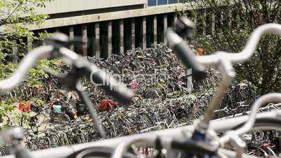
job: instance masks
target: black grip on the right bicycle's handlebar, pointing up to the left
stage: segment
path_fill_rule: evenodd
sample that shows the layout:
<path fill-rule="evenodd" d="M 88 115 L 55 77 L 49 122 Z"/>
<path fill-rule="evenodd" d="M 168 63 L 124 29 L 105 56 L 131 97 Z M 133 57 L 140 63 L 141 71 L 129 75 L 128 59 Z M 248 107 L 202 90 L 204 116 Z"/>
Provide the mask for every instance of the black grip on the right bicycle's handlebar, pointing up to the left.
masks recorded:
<path fill-rule="evenodd" d="M 196 55 L 194 55 L 192 49 L 180 36 L 178 36 L 178 34 L 175 34 L 173 29 L 168 28 L 167 38 L 169 45 L 171 45 L 187 69 L 192 68 L 193 72 L 196 73 L 197 78 L 202 78 L 206 75 L 206 67 L 196 61 Z"/>

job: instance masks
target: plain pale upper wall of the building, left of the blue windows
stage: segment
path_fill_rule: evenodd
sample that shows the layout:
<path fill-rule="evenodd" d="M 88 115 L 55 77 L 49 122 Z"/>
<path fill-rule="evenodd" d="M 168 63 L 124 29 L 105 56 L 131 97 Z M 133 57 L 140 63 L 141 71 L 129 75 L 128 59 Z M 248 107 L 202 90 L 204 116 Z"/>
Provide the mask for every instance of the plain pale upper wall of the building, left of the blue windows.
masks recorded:
<path fill-rule="evenodd" d="M 46 3 L 46 8 L 38 8 L 38 11 L 41 13 L 56 14 L 146 3 L 147 0 L 55 0 Z"/>

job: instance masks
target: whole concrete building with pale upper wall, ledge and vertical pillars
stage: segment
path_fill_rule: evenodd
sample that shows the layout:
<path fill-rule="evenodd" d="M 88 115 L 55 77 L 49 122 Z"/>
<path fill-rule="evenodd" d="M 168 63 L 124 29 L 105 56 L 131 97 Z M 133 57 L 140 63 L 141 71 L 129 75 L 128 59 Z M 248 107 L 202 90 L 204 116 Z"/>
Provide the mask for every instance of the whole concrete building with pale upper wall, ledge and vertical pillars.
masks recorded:
<path fill-rule="evenodd" d="M 40 27 L 29 26 L 35 33 L 61 31 L 73 38 L 81 36 L 86 45 L 71 45 L 82 55 L 110 57 L 133 48 L 166 43 L 164 32 L 183 8 L 180 0 L 55 0 L 41 13 L 50 18 Z"/>

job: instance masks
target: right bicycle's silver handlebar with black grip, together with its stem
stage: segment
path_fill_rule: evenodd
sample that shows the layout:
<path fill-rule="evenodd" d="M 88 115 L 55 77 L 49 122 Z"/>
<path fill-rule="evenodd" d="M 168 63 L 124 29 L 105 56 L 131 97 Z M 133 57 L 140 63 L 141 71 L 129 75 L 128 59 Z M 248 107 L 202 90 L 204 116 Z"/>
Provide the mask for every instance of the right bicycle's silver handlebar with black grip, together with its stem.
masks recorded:
<path fill-rule="evenodd" d="M 188 27 L 188 26 L 187 26 Z M 182 61 L 188 62 L 187 66 L 192 66 L 192 69 L 202 72 L 203 68 L 215 68 L 222 73 L 222 85 L 217 89 L 215 97 L 212 99 L 211 105 L 208 107 L 206 115 L 203 118 L 203 122 L 209 122 L 212 119 L 212 115 L 220 101 L 224 91 L 228 88 L 231 79 L 235 77 L 236 73 L 233 70 L 233 64 L 237 62 L 245 62 L 249 59 L 254 51 L 257 49 L 257 44 L 261 36 L 264 34 L 278 34 L 281 36 L 281 24 L 264 24 L 261 27 L 255 29 L 250 35 L 249 40 L 242 52 L 229 53 L 229 52 L 215 52 L 213 55 L 196 56 L 192 53 L 187 43 L 183 42 L 183 39 L 175 34 L 171 29 L 167 31 L 167 39 L 173 48 L 178 48 L 180 43 L 180 49 L 178 49 L 179 57 Z M 184 45 L 184 46 L 183 46 Z M 189 64 L 189 65 L 188 65 Z"/>

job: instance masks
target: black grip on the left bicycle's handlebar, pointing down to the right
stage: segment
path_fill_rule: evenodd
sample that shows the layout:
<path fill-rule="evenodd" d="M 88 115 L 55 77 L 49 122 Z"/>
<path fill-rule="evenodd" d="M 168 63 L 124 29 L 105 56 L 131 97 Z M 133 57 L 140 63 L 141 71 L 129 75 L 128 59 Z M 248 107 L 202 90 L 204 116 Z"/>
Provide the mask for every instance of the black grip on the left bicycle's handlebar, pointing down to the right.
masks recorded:
<path fill-rule="evenodd" d="M 99 69 L 95 64 L 92 64 L 85 59 L 80 60 L 79 64 L 78 67 L 83 69 L 81 72 L 87 73 L 85 75 L 87 77 L 89 76 L 92 84 L 104 89 L 107 94 L 113 96 L 120 103 L 127 104 L 134 97 L 134 92 L 131 91 L 131 89 L 128 89 L 126 85 L 110 76 L 106 71 Z"/>

